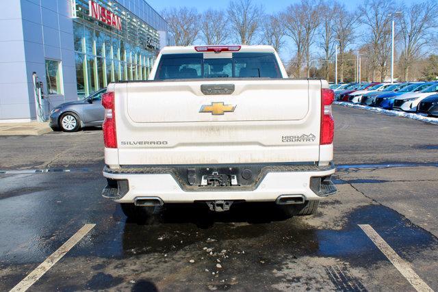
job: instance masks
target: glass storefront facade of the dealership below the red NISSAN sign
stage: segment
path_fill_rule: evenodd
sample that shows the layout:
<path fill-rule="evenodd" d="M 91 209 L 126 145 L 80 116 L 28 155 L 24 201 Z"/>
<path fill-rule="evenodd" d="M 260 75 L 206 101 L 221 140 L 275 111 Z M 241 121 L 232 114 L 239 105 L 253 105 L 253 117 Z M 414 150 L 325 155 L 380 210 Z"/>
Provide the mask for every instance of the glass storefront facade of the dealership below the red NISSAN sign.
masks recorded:
<path fill-rule="evenodd" d="M 73 34 L 78 96 L 91 94 L 114 81 L 145 80 L 149 76 L 149 63 L 159 47 L 159 34 L 123 6 L 112 2 L 111 10 L 122 19 L 121 31 L 90 18 L 88 1 L 76 1 Z"/>

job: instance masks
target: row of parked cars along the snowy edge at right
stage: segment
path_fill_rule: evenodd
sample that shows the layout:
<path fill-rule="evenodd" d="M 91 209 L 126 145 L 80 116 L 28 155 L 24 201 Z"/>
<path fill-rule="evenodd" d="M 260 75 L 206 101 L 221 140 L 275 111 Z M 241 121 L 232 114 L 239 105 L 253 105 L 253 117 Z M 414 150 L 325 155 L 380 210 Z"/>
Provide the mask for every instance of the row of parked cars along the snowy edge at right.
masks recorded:
<path fill-rule="evenodd" d="M 438 117 L 438 82 L 332 84 L 337 101 Z"/>

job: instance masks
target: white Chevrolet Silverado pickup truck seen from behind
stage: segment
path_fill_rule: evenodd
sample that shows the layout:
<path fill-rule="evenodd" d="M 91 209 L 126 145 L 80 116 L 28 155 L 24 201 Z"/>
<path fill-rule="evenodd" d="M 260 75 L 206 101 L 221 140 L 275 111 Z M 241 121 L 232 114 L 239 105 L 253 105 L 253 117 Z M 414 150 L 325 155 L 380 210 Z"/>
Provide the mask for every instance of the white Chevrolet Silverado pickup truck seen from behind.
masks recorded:
<path fill-rule="evenodd" d="M 103 95 L 103 196 L 137 219 L 196 202 L 310 215 L 336 191 L 328 88 L 289 79 L 270 46 L 165 47 L 148 81 Z"/>

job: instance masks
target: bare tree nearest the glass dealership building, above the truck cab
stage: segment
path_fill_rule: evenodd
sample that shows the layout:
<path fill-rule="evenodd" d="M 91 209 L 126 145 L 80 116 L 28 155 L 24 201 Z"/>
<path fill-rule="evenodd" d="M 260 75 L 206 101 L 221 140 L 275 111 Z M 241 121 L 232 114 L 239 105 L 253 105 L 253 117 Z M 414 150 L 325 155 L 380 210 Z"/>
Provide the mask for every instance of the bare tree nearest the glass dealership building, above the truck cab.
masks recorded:
<path fill-rule="evenodd" d="M 199 16 L 194 8 L 169 8 L 162 12 L 177 46 L 190 46 L 198 38 Z"/>

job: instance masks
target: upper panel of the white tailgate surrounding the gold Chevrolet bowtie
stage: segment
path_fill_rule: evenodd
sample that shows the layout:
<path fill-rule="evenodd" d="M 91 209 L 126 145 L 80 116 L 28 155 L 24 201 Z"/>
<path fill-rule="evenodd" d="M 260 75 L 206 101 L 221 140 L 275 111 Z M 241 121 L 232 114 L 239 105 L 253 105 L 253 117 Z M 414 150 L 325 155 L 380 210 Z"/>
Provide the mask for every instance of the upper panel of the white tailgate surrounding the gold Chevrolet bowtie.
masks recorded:
<path fill-rule="evenodd" d="M 234 86 L 234 92 L 205 95 L 201 85 Z M 309 90 L 307 82 L 283 80 L 132 83 L 126 101 L 135 123 L 302 120 L 309 111 Z M 203 105 L 218 101 L 234 106 L 233 113 L 199 113 Z"/>

